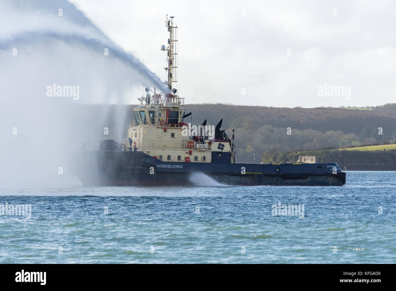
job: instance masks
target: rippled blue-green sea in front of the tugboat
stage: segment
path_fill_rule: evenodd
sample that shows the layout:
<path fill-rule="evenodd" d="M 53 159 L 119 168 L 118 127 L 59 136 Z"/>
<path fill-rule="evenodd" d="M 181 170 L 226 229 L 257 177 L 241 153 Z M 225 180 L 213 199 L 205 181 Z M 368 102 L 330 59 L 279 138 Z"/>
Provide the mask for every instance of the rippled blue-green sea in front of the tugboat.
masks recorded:
<path fill-rule="evenodd" d="M 69 178 L 0 189 L 0 263 L 396 262 L 395 171 L 347 171 L 338 187 Z"/>

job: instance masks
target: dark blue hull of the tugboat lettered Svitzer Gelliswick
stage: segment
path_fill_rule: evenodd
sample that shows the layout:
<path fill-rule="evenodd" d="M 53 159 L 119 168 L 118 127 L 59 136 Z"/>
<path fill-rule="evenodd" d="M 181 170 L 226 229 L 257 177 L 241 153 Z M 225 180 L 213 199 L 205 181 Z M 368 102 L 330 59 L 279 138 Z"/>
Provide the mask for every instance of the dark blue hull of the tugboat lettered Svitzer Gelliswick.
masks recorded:
<path fill-rule="evenodd" d="M 193 173 L 234 186 L 342 186 L 345 172 L 333 164 L 224 164 L 163 162 L 143 152 L 74 152 L 72 173 L 84 185 L 189 185 Z M 336 169 L 336 171 L 334 170 Z M 198 182 L 199 184 L 199 182 Z"/>

